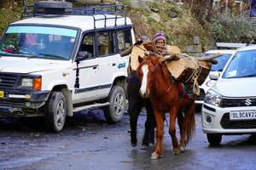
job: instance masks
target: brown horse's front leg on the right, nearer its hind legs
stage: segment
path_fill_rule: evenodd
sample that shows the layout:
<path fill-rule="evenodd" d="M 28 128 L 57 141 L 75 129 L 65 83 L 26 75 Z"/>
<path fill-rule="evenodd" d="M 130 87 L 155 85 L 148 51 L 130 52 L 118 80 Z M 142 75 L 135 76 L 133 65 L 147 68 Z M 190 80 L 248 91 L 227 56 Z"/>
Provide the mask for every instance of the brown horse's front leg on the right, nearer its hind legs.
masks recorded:
<path fill-rule="evenodd" d="M 177 107 L 173 106 L 170 110 L 170 127 L 169 127 L 169 134 L 172 137 L 172 146 L 173 152 L 175 155 L 179 154 L 178 142 L 176 137 L 176 117 L 177 117 Z"/>

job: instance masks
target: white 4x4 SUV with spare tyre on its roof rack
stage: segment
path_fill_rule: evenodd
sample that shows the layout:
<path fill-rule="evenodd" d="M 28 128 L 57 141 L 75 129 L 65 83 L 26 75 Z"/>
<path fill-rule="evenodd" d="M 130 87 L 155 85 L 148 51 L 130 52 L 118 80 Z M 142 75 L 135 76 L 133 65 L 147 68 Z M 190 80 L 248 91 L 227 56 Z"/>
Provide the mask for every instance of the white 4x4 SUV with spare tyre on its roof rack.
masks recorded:
<path fill-rule="evenodd" d="M 44 1 L 32 8 L 0 41 L 0 116 L 45 116 L 59 132 L 66 116 L 102 107 L 108 122 L 118 122 L 129 62 L 120 53 L 135 41 L 123 6 Z"/>

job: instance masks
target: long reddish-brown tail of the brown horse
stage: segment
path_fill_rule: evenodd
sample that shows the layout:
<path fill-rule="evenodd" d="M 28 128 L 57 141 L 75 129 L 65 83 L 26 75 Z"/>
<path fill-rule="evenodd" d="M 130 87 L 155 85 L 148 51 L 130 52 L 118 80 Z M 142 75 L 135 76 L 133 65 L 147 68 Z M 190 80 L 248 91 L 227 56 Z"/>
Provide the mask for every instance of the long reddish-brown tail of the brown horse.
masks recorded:
<path fill-rule="evenodd" d="M 186 135 L 187 143 L 189 143 L 195 131 L 195 103 L 186 109 L 183 123 L 183 132 Z"/>

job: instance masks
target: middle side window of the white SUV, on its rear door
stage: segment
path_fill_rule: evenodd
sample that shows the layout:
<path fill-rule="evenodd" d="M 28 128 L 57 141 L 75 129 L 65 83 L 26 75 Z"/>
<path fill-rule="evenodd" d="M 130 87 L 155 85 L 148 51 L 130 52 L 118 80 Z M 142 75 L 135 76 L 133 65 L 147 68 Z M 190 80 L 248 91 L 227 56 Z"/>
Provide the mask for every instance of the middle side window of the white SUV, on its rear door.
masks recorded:
<path fill-rule="evenodd" d="M 113 32 L 99 32 L 97 38 L 99 56 L 114 53 Z"/>

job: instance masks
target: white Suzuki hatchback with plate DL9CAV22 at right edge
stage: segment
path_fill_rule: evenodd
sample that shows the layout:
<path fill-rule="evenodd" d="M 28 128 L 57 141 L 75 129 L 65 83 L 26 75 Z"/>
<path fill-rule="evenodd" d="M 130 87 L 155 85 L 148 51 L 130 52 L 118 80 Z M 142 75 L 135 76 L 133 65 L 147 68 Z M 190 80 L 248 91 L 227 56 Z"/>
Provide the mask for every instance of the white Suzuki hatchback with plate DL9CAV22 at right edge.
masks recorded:
<path fill-rule="evenodd" d="M 202 130 L 210 144 L 223 134 L 256 133 L 256 46 L 239 48 L 207 91 L 201 111 Z"/>

